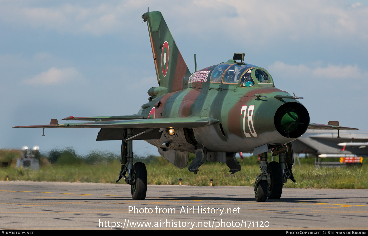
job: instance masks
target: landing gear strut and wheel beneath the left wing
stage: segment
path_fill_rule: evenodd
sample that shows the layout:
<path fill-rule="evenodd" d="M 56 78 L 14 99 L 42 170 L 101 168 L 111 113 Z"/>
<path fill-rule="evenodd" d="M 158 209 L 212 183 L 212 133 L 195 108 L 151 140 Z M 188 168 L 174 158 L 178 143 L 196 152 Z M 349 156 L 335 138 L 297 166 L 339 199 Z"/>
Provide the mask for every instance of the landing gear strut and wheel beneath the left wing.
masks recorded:
<path fill-rule="evenodd" d="M 133 165 L 133 129 L 125 129 L 123 141 L 121 142 L 120 163 L 121 170 L 116 180 L 121 178 L 130 184 L 133 200 L 144 200 L 147 192 L 147 169 L 144 163 L 136 162 Z M 128 174 L 128 176 L 125 176 Z"/>

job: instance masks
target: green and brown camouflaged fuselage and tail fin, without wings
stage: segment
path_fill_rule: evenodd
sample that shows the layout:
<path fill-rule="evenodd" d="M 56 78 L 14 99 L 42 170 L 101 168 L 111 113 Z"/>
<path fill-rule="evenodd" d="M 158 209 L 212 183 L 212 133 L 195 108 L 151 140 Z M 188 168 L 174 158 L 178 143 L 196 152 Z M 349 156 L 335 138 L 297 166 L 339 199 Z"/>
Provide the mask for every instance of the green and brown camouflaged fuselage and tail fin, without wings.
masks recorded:
<path fill-rule="evenodd" d="M 142 109 L 139 115 L 148 115 L 153 109 L 153 105 L 160 101 L 160 106 L 155 111 L 155 118 L 169 117 L 210 117 L 218 120 L 216 124 L 194 128 L 195 139 L 208 151 L 216 152 L 252 152 L 255 147 L 263 144 L 280 145 L 289 143 L 297 139 L 287 138 L 277 132 L 274 125 L 276 110 L 286 102 L 295 99 L 275 99 L 276 95 L 287 95 L 289 93 L 277 89 L 271 79 L 271 83 L 259 83 L 255 80 L 252 87 L 241 87 L 238 84 L 211 83 L 210 76 L 217 65 L 204 68 L 191 74 L 183 57 L 178 50 L 176 43 L 164 21 L 162 14 L 158 11 L 147 12 L 142 15 L 147 21 L 152 52 L 156 67 L 156 75 L 159 87 L 153 87 L 148 91 L 152 96 L 151 106 Z M 169 43 L 169 68 L 167 74 L 163 76 L 161 58 L 161 46 L 163 42 Z M 225 64 L 236 64 L 234 60 L 229 60 Z M 245 63 L 249 68 L 257 68 L 255 65 Z M 263 68 L 262 68 L 263 69 Z M 263 69 L 264 70 L 264 69 Z M 205 79 L 192 82 L 195 74 L 201 71 L 210 71 Z M 267 98 L 259 99 L 255 96 L 262 95 Z M 298 103 L 298 101 L 295 101 Z M 253 123 L 257 137 L 245 137 L 243 132 L 243 106 L 254 105 Z M 308 115 L 308 114 L 305 114 Z M 309 116 L 309 115 L 308 115 Z M 309 117 L 308 117 L 309 122 Z M 221 131 L 222 125 L 223 132 Z M 246 132 L 248 127 L 245 125 Z M 304 130 L 305 131 L 305 130 Z M 304 133 L 304 132 L 303 132 Z M 146 140 L 147 142 L 163 147 L 161 139 Z M 185 140 L 182 140 L 183 143 Z M 188 145 L 187 145 L 188 146 Z M 174 146 L 174 149 L 188 150 L 187 147 Z M 190 152 L 194 153 L 192 149 Z"/>

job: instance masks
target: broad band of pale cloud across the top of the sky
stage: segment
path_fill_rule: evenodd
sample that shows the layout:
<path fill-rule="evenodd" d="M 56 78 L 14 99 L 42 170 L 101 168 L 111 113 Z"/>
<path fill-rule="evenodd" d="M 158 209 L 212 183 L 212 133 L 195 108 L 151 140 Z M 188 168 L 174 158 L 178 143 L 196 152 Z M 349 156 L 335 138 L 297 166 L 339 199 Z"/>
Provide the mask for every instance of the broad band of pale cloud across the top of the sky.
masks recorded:
<path fill-rule="evenodd" d="M 28 5 L 27 5 L 28 4 Z M 36 4 L 42 4 L 36 2 Z M 345 1 L 104 1 L 34 6 L 0 3 L 0 19 L 10 24 L 54 29 L 59 33 L 121 34 L 141 21 L 147 6 L 175 21 L 177 30 L 198 36 L 225 36 L 265 43 L 275 37 L 368 39 L 368 7 Z M 137 12 L 140 12 L 137 14 Z M 172 24 L 172 23 L 171 23 Z M 171 25 L 169 24 L 169 26 Z M 179 29 L 178 29 L 179 28 Z"/>

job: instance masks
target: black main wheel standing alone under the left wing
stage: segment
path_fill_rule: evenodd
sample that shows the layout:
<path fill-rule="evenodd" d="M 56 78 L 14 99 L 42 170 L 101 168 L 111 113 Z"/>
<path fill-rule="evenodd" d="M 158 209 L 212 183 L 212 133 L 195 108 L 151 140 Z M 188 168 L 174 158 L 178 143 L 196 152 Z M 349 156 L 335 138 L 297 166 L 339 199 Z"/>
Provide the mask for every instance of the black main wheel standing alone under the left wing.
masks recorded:
<path fill-rule="evenodd" d="M 147 169 L 142 162 L 133 165 L 132 177 L 135 180 L 130 185 L 133 200 L 144 200 L 147 193 Z"/>

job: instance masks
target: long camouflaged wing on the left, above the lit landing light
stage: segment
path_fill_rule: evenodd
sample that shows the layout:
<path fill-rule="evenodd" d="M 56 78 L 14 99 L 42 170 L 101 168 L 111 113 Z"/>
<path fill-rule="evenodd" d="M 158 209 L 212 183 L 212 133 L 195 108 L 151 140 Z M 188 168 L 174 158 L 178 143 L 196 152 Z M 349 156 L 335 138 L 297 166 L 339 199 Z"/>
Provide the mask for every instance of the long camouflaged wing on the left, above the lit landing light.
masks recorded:
<path fill-rule="evenodd" d="M 58 124 L 56 119 L 52 119 L 50 125 L 15 126 L 13 128 L 198 128 L 217 122 L 219 122 L 217 119 L 208 117 L 176 117 Z"/>

